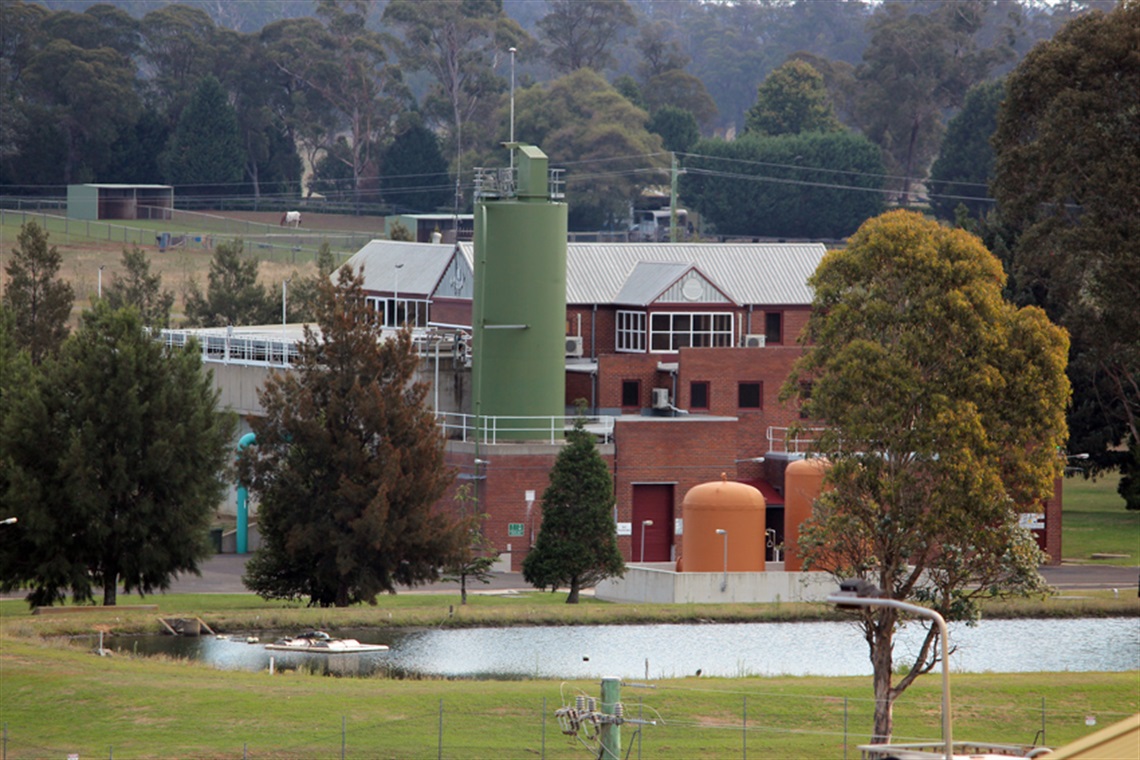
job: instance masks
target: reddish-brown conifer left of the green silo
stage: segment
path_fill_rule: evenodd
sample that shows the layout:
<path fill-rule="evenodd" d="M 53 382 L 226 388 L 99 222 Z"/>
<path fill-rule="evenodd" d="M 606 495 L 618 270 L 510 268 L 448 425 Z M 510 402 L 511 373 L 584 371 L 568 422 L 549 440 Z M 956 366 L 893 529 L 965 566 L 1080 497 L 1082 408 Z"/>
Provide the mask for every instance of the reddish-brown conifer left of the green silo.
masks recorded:
<path fill-rule="evenodd" d="M 263 541 L 245 583 L 311 606 L 374 603 L 438 579 L 469 523 L 433 506 L 454 474 L 412 334 L 383 336 L 350 268 L 324 284 L 317 312 L 293 369 L 266 381 L 242 457 Z"/>

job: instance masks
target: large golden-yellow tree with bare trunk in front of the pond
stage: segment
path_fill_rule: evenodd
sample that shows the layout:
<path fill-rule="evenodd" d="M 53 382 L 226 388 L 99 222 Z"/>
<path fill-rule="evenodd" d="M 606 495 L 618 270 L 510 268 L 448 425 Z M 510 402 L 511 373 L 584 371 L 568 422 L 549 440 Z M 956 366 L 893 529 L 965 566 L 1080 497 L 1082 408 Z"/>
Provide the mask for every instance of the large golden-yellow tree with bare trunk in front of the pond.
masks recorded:
<path fill-rule="evenodd" d="M 1002 297 L 1001 263 L 963 230 L 907 211 L 830 251 L 783 398 L 824 425 L 824 492 L 800 531 L 806 566 L 971 620 L 980 596 L 1042 591 L 1039 512 L 1061 474 L 1068 340 Z M 874 741 L 891 705 L 938 662 L 930 627 L 896 669 L 905 618 L 860 613 L 874 670 Z"/>

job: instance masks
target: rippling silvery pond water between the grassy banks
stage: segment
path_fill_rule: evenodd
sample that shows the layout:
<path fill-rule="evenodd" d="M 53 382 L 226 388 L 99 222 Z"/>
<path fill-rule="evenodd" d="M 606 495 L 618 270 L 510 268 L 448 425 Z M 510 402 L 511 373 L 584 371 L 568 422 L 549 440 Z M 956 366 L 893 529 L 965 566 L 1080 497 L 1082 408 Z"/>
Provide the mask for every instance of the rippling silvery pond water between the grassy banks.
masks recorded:
<path fill-rule="evenodd" d="M 906 626 L 895 660 L 917 651 L 923 629 Z M 866 643 L 852 623 L 564 626 L 463 630 L 335 631 L 388 652 L 307 655 L 262 643 L 174 636 L 114 637 L 108 648 L 198 659 L 229 670 L 303 669 L 334 675 L 454 678 L 657 679 L 691 676 L 864 676 Z M 991 620 L 951 626 L 951 672 L 1140 670 L 1140 619 Z"/>

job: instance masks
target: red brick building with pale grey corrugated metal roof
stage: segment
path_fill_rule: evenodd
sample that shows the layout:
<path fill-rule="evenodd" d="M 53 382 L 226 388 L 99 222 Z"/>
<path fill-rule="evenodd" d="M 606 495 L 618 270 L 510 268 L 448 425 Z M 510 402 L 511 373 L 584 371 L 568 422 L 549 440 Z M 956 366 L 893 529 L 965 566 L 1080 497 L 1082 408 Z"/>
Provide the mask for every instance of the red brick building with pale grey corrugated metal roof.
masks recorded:
<path fill-rule="evenodd" d="M 783 467 L 800 456 L 785 431 L 801 422 L 779 395 L 803 351 L 807 279 L 823 255 L 822 244 L 569 244 L 565 417 L 548 422 L 551 435 L 498 442 L 483 419 L 477 436 L 464 362 L 435 379 L 447 389 L 438 411 L 458 420 L 447 433 L 456 487 L 473 487 L 503 566 L 518 570 L 537 534 L 561 431 L 579 400 L 611 468 L 627 559 L 675 559 L 682 499 L 722 475 L 760 489 L 772 533 L 756 541 L 779 547 Z M 374 240 L 348 263 L 364 267 L 385 324 L 458 333 L 455 345 L 466 348 L 472 256 L 469 243 Z M 1059 495 L 1044 525 L 1042 547 L 1059 562 Z"/>

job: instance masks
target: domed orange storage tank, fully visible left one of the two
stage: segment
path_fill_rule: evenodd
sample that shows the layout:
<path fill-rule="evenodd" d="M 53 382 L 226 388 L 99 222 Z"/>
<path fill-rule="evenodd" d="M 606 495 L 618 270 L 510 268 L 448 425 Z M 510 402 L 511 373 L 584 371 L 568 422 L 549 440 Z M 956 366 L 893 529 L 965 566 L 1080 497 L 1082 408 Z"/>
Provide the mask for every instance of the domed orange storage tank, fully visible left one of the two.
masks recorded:
<path fill-rule="evenodd" d="M 689 489 L 682 501 L 684 572 L 711 573 L 764 570 L 764 497 L 751 485 L 722 479 Z M 722 536 L 718 530 L 725 531 Z M 725 538 L 727 537 L 727 539 Z M 681 563 L 678 563 L 679 570 Z"/>

